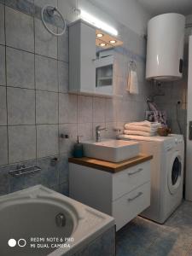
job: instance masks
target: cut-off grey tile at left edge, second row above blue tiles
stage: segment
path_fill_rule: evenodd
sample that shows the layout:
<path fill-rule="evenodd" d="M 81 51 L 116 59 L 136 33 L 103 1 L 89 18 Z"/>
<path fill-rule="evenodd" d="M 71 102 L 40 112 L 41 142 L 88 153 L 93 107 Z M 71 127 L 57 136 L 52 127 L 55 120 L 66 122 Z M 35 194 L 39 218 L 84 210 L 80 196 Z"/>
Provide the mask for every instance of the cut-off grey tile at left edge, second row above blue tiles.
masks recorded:
<path fill-rule="evenodd" d="M 0 125 L 7 125 L 6 87 L 0 86 Z"/>

